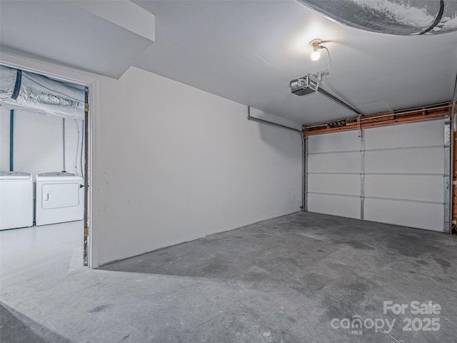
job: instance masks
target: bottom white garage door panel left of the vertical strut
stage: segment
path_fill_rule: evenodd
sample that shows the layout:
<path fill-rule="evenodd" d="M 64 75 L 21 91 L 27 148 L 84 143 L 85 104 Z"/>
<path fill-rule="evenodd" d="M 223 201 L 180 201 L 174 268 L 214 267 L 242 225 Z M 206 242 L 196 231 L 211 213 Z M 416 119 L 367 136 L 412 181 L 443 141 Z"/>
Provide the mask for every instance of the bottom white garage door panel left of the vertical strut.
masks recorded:
<path fill-rule="evenodd" d="M 308 212 L 360 219 L 360 198 L 327 194 L 308 194 Z"/>

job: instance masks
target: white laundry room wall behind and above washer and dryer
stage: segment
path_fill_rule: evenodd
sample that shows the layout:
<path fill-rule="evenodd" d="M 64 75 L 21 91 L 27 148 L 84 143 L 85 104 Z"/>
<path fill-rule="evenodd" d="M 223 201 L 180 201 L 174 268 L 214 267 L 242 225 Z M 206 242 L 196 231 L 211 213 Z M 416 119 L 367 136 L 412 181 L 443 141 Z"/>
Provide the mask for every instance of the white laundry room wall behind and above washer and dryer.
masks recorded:
<path fill-rule="evenodd" d="M 10 111 L 0 106 L 0 170 L 9 170 Z M 66 119 L 66 172 L 81 175 L 80 159 L 82 121 Z M 79 149 L 79 152 L 78 152 Z M 76 154 L 78 156 L 76 157 Z M 61 172 L 62 119 L 26 109 L 14 111 L 14 171 L 34 174 Z M 77 168 L 76 168 L 77 166 Z"/>

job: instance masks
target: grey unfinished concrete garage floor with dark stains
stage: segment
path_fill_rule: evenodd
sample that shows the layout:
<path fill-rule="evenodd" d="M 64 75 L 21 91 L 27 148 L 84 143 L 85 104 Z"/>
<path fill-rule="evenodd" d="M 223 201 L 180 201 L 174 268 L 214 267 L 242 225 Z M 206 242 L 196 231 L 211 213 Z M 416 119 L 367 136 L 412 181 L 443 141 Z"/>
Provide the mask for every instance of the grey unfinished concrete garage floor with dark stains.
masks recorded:
<path fill-rule="evenodd" d="M 448 234 L 291 214 L 97 270 L 2 275 L 1 342 L 454 343 L 456 261 Z"/>

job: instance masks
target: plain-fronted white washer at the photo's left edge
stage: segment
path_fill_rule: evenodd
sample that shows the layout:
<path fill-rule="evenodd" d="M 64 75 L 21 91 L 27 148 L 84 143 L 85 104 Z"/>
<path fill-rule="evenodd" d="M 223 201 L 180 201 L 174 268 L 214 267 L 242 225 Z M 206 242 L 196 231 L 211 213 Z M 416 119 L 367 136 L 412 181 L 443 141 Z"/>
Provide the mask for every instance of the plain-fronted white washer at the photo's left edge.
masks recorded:
<path fill-rule="evenodd" d="M 0 230 L 34 224 L 34 182 L 31 174 L 0 172 Z"/>

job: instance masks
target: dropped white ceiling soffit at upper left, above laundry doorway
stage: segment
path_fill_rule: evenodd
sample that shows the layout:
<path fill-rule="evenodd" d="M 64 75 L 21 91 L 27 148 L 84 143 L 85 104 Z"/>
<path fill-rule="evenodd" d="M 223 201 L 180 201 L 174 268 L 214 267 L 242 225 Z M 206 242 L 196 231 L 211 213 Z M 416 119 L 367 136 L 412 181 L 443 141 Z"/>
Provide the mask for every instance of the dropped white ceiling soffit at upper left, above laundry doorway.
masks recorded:
<path fill-rule="evenodd" d="M 153 44 L 151 35 L 131 31 L 134 25 L 119 24 L 119 19 L 106 19 L 109 9 L 105 9 L 106 16 L 101 16 L 90 8 L 82 8 L 88 7 L 85 3 L 76 6 L 73 2 L 78 4 L 77 1 L 0 0 L 1 49 L 21 51 L 58 64 L 119 78 Z M 129 1 L 113 3 L 114 7 L 124 4 L 140 9 L 140 12 L 130 12 L 144 19 L 141 12 L 146 11 L 139 6 Z M 122 9 L 129 11 L 131 6 L 122 6 Z M 154 16 L 151 20 L 154 21 Z"/>

